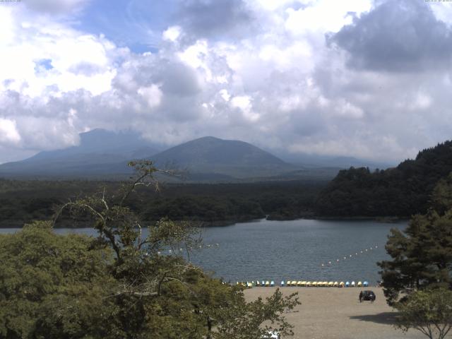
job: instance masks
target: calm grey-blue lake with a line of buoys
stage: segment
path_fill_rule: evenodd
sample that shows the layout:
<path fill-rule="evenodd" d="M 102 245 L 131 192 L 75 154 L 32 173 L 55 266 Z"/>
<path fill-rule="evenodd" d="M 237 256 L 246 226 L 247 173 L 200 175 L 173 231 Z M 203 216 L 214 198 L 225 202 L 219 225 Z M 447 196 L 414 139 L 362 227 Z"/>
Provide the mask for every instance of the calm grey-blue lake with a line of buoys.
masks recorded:
<path fill-rule="evenodd" d="M 367 280 L 374 285 L 381 280 L 376 262 L 389 258 L 384 249 L 389 231 L 406 225 L 367 220 L 256 220 L 208 227 L 202 230 L 203 242 L 212 246 L 194 250 L 191 261 L 231 282 Z M 0 229 L 0 233 L 16 231 Z M 90 228 L 55 232 L 95 235 Z"/>

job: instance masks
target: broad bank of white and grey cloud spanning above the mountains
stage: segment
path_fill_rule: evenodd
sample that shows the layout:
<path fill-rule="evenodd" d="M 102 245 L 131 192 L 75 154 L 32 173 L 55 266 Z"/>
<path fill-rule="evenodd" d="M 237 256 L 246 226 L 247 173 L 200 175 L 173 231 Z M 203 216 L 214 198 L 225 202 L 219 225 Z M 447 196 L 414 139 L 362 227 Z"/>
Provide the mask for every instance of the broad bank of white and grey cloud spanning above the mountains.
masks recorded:
<path fill-rule="evenodd" d="M 213 135 L 276 151 L 401 160 L 450 138 L 449 69 L 357 69 L 349 52 L 326 44 L 351 22 L 348 12 L 359 20 L 371 1 L 235 2 L 246 18 L 230 13 L 224 27 L 237 19 L 250 33 L 206 34 L 215 23 L 203 16 L 196 25 L 192 11 L 190 25 L 169 22 L 158 51 L 143 54 L 66 20 L 0 6 L 0 149 L 28 155 L 106 128 L 168 145 Z M 214 6 L 209 13 L 220 16 Z"/>

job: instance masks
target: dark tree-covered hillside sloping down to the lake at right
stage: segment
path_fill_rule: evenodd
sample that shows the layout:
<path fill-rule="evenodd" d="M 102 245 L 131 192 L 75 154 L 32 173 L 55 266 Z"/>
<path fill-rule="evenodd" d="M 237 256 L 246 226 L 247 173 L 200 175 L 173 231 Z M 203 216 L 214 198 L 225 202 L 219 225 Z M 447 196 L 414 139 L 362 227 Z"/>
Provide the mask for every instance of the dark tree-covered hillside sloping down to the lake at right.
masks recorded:
<path fill-rule="evenodd" d="M 395 168 L 341 170 L 316 201 L 316 214 L 399 216 L 425 213 L 435 184 L 452 171 L 452 141 L 420 151 Z"/>

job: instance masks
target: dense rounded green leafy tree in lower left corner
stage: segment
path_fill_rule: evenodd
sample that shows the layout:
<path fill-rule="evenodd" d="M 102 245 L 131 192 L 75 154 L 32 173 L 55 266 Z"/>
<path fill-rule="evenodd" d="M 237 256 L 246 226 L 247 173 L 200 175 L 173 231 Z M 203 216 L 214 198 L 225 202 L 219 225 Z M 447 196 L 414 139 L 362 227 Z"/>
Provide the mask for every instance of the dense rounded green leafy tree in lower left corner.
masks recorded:
<path fill-rule="evenodd" d="M 111 251 L 92 249 L 91 243 L 82 235 L 54 234 L 50 222 L 34 222 L 16 234 L 0 236 L 0 338 L 30 338 L 30 333 L 63 338 L 39 333 L 40 324 L 49 319 L 62 326 L 59 335 L 71 332 L 65 326 L 72 326 L 76 313 L 68 304 L 57 303 L 64 298 L 71 297 L 77 307 L 86 302 L 87 311 L 96 309 L 105 295 L 98 286 L 111 280 Z M 49 304 L 54 304 L 52 313 Z M 100 314 L 93 314 L 90 322 Z M 103 318 L 98 321 L 106 321 L 107 315 Z"/>

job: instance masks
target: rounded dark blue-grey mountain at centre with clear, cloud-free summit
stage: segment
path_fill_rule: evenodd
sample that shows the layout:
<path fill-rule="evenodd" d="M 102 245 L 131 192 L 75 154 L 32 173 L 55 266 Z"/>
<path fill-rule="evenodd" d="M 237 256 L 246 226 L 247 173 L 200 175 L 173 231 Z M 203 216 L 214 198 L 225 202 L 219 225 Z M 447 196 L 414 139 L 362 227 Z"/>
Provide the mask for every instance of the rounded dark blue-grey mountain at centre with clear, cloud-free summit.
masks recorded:
<path fill-rule="evenodd" d="M 153 156 L 158 167 L 186 169 L 189 174 L 241 179 L 269 177 L 297 169 L 250 143 L 212 136 L 182 143 Z"/>

